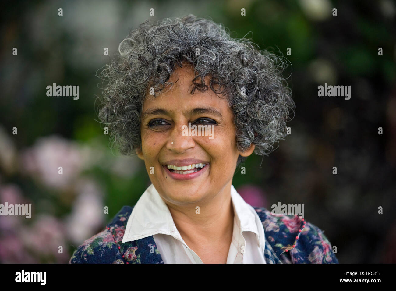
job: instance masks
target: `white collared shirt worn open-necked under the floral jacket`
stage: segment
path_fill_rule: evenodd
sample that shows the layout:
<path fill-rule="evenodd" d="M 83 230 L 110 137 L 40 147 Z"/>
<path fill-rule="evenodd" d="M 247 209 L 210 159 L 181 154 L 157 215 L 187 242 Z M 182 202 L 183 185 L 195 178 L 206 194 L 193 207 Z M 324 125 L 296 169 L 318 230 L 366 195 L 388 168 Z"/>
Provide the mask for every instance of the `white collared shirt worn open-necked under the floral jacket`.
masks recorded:
<path fill-rule="evenodd" d="M 257 212 L 231 185 L 234 229 L 228 251 L 229 263 L 265 263 L 264 227 Z M 153 236 L 164 263 L 203 263 L 177 230 L 168 205 L 150 184 L 133 207 L 122 243 Z"/>

